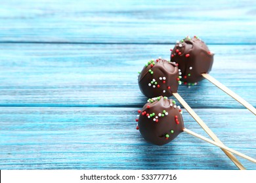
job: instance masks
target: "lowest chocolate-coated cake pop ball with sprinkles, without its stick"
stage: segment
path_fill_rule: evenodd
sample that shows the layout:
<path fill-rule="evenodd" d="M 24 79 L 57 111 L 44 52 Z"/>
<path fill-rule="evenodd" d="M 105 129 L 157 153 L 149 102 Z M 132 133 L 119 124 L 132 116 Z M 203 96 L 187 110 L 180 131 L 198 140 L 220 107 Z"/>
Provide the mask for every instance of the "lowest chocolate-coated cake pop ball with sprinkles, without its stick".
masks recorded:
<path fill-rule="evenodd" d="M 167 97 L 155 97 L 148 101 L 139 115 L 139 131 L 152 144 L 167 144 L 184 129 L 182 110 Z"/>

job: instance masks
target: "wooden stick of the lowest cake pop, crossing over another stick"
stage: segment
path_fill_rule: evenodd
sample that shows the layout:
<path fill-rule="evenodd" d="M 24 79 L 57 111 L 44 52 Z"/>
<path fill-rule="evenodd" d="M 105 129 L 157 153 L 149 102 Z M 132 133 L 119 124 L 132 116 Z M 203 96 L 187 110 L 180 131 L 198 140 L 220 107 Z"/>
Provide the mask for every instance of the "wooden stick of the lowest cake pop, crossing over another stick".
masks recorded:
<path fill-rule="evenodd" d="M 245 158 L 253 163 L 256 163 L 256 159 L 253 159 L 245 154 L 242 154 L 236 150 L 233 150 L 232 148 L 228 148 L 227 146 L 224 146 L 223 144 L 220 144 L 220 143 L 217 143 L 215 141 L 211 141 L 210 139 L 207 139 L 205 137 L 203 137 L 202 135 L 199 135 L 198 133 L 194 133 L 193 131 L 190 131 L 189 129 L 186 129 L 184 128 L 183 131 L 185 131 L 186 133 L 190 134 L 190 135 L 193 135 L 194 137 L 198 137 L 199 139 L 202 139 L 203 141 L 206 141 L 206 142 L 209 142 L 210 144 L 213 144 L 215 146 L 218 146 L 219 148 L 223 149 L 223 150 L 226 150 L 226 151 L 229 151 L 229 152 L 232 152 L 234 154 L 236 154 L 237 156 L 240 156 L 242 158 Z"/>

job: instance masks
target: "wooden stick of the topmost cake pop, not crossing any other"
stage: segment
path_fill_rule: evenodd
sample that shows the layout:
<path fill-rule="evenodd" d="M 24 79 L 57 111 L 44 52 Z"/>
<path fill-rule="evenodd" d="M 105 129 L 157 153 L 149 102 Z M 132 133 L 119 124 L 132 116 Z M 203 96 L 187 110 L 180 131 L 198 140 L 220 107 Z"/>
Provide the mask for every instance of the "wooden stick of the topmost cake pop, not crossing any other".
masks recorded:
<path fill-rule="evenodd" d="M 231 97 L 233 97 L 236 101 L 238 101 L 239 103 L 241 103 L 242 105 L 244 105 L 244 107 L 246 107 L 248 110 L 250 110 L 251 112 L 253 112 L 253 114 L 256 115 L 256 108 L 254 108 L 252 105 L 250 105 L 249 103 L 247 103 L 247 101 L 245 101 L 244 99 L 242 99 L 242 97 L 240 97 L 238 94 L 232 92 L 232 90 L 230 90 L 229 88 L 227 88 L 226 86 L 224 86 L 224 84 L 221 84 L 221 82 L 219 82 L 218 80 L 216 80 L 215 78 L 213 78 L 213 76 L 209 75 L 209 74 L 202 74 L 202 76 L 209 80 L 209 82 L 211 82 L 212 84 L 214 84 L 215 86 L 217 86 L 219 89 L 223 90 L 223 92 L 227 93 L 228 95 L 230 95 Z"/>

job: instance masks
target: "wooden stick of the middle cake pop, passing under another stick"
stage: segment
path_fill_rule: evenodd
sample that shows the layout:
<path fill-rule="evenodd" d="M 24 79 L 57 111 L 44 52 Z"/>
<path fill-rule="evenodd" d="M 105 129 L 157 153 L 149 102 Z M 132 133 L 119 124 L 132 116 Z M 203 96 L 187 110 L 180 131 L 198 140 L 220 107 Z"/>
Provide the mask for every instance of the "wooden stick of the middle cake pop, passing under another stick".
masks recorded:
<path fill-rule="evenodd" d="M 173 93 L 173 96 L 175 96 L 175 98 L 182 104 L 182 106 L 184 108 L 186 108 L 188 113 L 194 118 L 194 120 L 196 120 L 196 122 L 198 122 L 198 124 L 204 129 L 204 131 L 209 135 L 209 137 L 211 137 L 211 139 L 213 139 L 213 141 L 223 144 L 223 142 L 221 142 L 219 140 L 219 138 L 215 135 L 215 133 L 213 133 L 213 131 L 211 131 L 211 129 L 209 129 L 209 127 L 203 122 L 203 120 L 198 116 L 198 114 L 196 114 L 196 112 L 194 112 L 194 110 L 192 110 L 192 108 L 186 103 L 186 101 L 184 101 L 184 99 L 182 99 L 182 97 L 181 97 L 181 95 L 179 95 L 179 93 Z M 238 161 L 238 159 L 236 159 L 236 157 L 233 154 L 231 154 L 230 152 L 228 152 L 226 150 L 223 150 L 223 152 L 226 154 L 226 156 L 228 156 L 228 158 L 230 158 L 231 161 L 234 162 L 234 164 L 239 169 L 245 170 L 245 167 Z"/>

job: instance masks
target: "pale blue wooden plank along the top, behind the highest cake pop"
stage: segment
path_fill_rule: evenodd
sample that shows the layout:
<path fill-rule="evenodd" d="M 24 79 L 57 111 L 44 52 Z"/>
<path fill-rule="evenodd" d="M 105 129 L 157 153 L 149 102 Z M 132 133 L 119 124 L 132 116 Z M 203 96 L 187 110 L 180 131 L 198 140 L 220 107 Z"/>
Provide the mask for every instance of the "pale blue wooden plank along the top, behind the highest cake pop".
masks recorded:
<path fill-rule="evenodd" d="M 1 1 L 1 42 L 256 44 L 255 1 Z"/>

